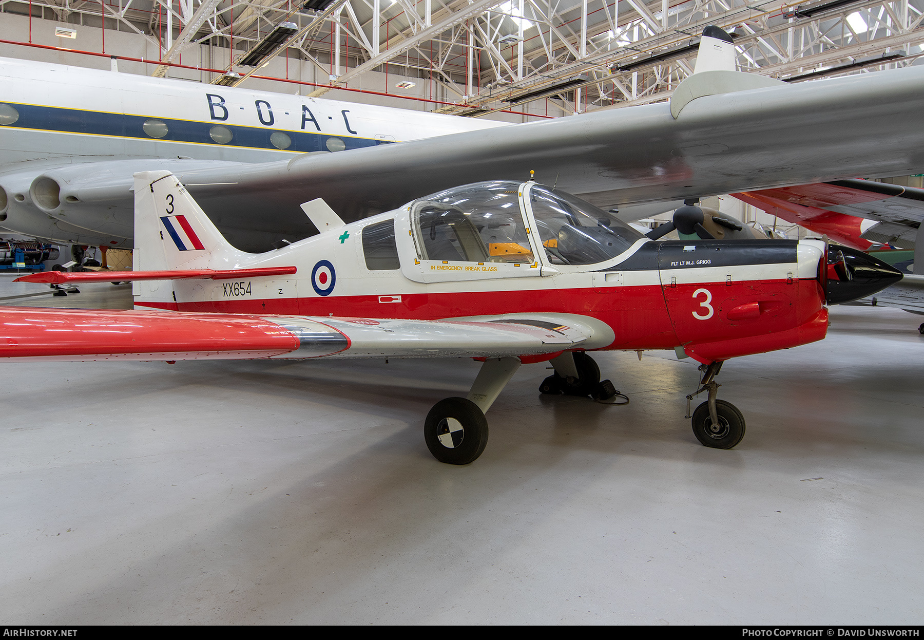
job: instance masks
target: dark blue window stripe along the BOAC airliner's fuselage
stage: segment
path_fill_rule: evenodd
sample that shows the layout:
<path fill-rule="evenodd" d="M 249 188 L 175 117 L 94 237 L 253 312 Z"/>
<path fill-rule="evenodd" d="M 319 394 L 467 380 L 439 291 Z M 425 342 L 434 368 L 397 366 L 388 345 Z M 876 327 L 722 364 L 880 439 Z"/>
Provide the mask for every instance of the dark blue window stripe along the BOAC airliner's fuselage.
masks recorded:
<path fill-rule="evenodd" d="M 228 146 L 249 147 L 252 149 L 270 149 L 272 151 L 291 151 L 299 154 L 313 151 L 328 151 L 327 141 L 337 138 L 343 141 L 346 149 L 359 149 L 374 147 L 378 141 L 365 138 L 349 138 L 335 133 L 323 131 L 290 131 L 288 129 L 273 129 L 271 127 L 242 127 L 229 125 L 225 122 L 193 122 L 189 120 L 175 120 L 169 117 L 128 116 L 123 114 L 107 114 L 97 111 L 83 111 L 80 109 L 66 109 L 56 106 L 12 105 L 19 112 L 18 120 L 11 125 L 16 129 L 38 129 L 45 131 L 62 131 L 67 133 L 84 133 L 101 136 L 117 136 L 120 138 L 136 138 L 140 140 L 164 142 L 197 142 L 211 144 L 216 147 L 225 146 L 214 142 L 209 131 L 218 125 L 229 129 L 233 135 Z M 300 114 L 299 116 L 300 117 Z M 144 132 L 143 125 L 148 120 L 159 120 L 167 125 L 168 132 L 164 138 L 152 138 Z M 306 126 L 314 128 L 313 123 Z M 0 126 L 0 129 L 4 129 Z M 280 150 L 270 142 L 270 136 L 276 131 L 285 133 L 292 139 L 292 144 Z"/>

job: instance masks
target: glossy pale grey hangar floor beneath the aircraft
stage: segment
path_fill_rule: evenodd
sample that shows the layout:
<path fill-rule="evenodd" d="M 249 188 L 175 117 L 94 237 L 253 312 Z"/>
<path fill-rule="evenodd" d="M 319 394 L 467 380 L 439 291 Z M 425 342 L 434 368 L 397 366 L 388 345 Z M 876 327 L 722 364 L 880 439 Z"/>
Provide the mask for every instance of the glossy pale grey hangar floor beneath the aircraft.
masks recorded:
<path fill-rule="evenodd" d="M 918 324 L 833 307 L 822 342 L 727 363 L 727 451 L 673 353 L 595 355 L 622 407 L 524 366 L 465 467 L 421 425 L 467 360 L 7 364 L 3 622 L 919 624 Z"/>

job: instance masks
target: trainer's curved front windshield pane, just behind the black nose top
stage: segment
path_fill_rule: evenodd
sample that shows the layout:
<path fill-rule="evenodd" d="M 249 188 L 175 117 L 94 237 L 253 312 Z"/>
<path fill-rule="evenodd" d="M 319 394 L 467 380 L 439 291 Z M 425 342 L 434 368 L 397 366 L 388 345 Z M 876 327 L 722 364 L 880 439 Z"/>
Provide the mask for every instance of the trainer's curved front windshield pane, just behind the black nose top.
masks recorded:
<path fill-rule="evenodd" d="M 644 238 L 613 215 L 564 191 L 535 185 L 529 202 L 553 265 L 602 263 Z"/>

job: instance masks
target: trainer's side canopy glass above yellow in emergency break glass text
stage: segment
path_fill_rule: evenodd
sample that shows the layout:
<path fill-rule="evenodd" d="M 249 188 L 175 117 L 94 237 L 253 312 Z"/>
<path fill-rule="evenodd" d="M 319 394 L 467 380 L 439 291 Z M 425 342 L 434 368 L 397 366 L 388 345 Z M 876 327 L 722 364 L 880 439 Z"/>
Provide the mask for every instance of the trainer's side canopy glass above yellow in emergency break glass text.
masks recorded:
<path fill-rule="evenodd" d="M 519 182 L 479 182 L 415 202 L 411 218 L 421 259 L 533 262 L 519 189 Z"/>

